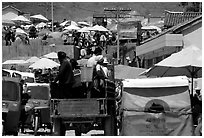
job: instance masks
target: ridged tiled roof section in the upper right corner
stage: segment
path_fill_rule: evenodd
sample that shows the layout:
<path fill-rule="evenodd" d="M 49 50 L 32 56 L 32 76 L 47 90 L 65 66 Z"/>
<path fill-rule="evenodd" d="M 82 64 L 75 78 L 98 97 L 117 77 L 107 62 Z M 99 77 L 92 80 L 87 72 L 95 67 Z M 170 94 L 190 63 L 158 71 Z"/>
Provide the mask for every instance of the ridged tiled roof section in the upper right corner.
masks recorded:
<path fill-rule="evenodd" d="M 191 20 L 202 12 L 170 12 L 165 11 L 164 27 L 172 27 L 185 21 Z"/>

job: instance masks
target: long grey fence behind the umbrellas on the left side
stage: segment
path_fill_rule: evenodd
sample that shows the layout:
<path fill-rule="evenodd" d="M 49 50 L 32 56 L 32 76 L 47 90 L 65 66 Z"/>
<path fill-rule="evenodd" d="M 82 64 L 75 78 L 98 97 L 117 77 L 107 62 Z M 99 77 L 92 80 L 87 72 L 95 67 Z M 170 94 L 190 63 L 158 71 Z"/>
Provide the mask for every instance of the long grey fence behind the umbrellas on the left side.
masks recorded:
<path fill-rule="evenodd" d="M 55 46 L 50 46 L 49 43 L 43 45 L 40 39 L 31 39 L 30 45 L 25 45 L 22 41 L 16 40 L 11 46 L 2 46 L 2 61 L 16 57 L 40 57 L 50 52 L 58 51 L 64 51 L 70 58 L 75 58 L 76 55 L 74 54 L 76 49 L 73 45 L 63 45 L 59 42 Z"/>

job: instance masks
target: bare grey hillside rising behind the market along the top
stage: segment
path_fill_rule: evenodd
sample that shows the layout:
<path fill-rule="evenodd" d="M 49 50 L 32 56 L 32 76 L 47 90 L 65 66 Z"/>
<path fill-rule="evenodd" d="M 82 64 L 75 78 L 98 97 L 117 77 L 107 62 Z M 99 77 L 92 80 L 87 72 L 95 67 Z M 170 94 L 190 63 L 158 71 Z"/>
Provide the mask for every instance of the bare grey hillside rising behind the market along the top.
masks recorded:
<path fill-rule="evenodd" d="M 12 5 L 19 10 L 34 14 L 42 14 L 51 19 L 50 2 L 2 2 L 2 7 Z M 63 19 L 83 20 L 92 17 L 94 13 L 102 13 L 104 8 L 116 6 L 131 8 L 138 14 L 151 16 L 162 16 L 164 10 L 182 11 L 179 2 L 54 2 L 54 20 Z"/>

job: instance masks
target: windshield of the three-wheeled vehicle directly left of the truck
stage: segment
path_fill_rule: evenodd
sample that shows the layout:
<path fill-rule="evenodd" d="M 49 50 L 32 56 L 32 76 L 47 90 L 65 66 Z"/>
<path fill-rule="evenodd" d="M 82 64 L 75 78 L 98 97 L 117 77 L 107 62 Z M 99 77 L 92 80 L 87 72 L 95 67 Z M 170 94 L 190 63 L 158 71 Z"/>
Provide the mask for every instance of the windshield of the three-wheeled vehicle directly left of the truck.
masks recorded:
<path fill-rule="evenodd" d="M 49 99 L 49 89 L 43 86 L 29 86 L 27 89 L 28 94 L 31 99 L 48 100 Z"/>

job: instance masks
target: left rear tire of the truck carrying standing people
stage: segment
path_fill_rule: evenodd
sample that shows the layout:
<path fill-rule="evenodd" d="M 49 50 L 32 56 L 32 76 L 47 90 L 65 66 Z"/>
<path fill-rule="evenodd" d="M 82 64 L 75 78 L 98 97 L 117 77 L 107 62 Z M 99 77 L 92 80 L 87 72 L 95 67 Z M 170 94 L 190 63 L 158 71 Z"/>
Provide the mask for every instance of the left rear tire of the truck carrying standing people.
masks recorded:
<path fill-rule="evenodd" d="M 62 124 L 60 119 L 53 119 L 53 135 L 54 136 L 65 136 L 66 128 Z"/>

